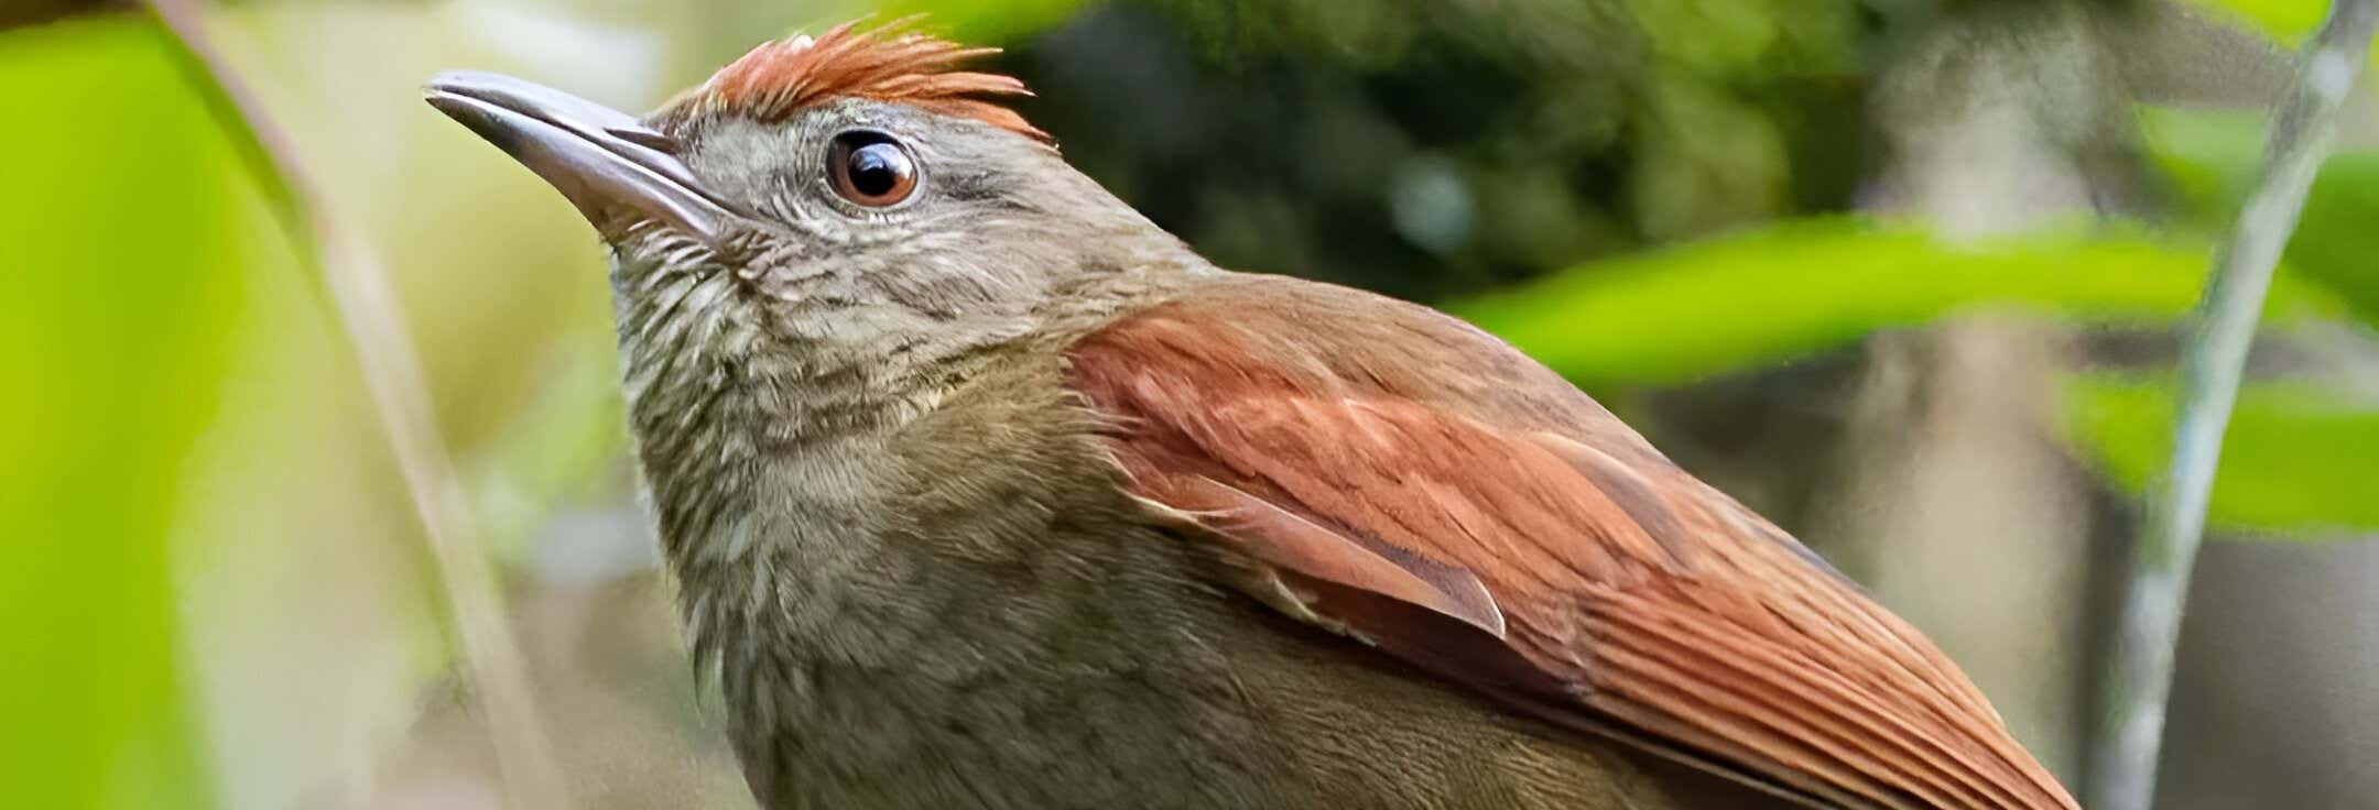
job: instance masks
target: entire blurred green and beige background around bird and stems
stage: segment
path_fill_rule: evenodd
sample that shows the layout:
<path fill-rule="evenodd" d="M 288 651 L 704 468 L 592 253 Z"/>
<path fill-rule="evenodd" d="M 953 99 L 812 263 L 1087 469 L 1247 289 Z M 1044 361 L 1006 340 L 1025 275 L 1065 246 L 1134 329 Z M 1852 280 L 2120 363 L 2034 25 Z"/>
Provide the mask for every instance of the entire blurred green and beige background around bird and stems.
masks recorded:
<path fill-rule="evenodd" d="M 649 109 L 864 12 L 1211 259 L 1446 306 L 1939 639 L 2077 779 L 2174 318 L 2317 0 L 378 0 L 205 24 L 402 309 L 576 808 L 747 808 L 623 456 L 602 249 L 419 102 Z M 0 0 L 0 803 L 497 808 L 450 570 L 243 135 L 140 7 Z M 2289 247 L 2163 808 L 2379 796 L 2379 107 Z"/>

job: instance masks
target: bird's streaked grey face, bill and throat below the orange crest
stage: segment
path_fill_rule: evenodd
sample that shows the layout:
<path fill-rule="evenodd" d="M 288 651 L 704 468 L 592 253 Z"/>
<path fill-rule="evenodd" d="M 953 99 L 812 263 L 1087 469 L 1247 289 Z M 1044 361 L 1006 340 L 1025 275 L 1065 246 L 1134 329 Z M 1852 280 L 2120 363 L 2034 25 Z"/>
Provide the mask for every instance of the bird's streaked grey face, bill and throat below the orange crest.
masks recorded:
<path fill-rule="evenodd" d="M 438 76 L 428 100 L 611 242 L 628 397 L 652 418 L 740 392 L 785 430 L 818 399 L 897 420 L 1030 335 L 1056 290 L 1197 264 L 1054 147 L 911 105 L 638 121 L 492 74 Z"/>

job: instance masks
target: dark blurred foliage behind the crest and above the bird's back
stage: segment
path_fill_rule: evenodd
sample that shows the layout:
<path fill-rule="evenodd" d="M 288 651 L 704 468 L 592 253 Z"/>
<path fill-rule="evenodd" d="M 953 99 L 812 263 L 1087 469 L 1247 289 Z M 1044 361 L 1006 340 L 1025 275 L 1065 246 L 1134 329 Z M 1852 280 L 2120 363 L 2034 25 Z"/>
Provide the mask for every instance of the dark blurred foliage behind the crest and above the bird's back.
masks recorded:
<path fill-rule="evenodd" d="M 1846 209 L 1868 36 L 1846 0 L 1128 0 L 999 69 L 1209 259 L 1437 302 Z"/>

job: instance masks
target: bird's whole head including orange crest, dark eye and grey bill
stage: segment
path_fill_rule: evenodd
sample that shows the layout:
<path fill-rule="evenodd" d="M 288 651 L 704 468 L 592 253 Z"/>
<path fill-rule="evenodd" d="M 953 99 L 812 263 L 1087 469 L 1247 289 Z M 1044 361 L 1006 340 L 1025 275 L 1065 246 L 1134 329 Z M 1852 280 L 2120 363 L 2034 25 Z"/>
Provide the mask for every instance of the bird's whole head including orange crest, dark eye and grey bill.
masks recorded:
<path fill-rule="evenodd" d="M 842 24 L 759 45 L 642 119 L 495 74 L 426 95 L 614 247 L 623 347 L 914 354 L 997 340 L 1068 280 L 1180 252 L 999 105 L 1021 81 L 959 69 L 990 52 Z"/>

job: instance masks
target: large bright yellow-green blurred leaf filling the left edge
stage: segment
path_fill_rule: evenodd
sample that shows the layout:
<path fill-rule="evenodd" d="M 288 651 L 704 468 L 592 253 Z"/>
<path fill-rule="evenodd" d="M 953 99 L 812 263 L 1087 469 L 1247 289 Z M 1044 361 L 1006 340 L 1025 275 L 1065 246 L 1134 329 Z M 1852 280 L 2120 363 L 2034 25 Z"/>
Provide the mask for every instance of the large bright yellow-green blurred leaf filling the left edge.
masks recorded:
<path fill-rule="evenodd" d="M 12 808 L 202 808 L 169 525 L 214 420 L 262 202 L 171 40 L 0 33 L 0 786 Z"/>

